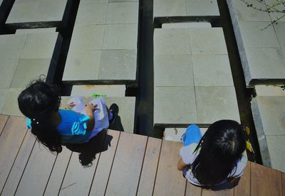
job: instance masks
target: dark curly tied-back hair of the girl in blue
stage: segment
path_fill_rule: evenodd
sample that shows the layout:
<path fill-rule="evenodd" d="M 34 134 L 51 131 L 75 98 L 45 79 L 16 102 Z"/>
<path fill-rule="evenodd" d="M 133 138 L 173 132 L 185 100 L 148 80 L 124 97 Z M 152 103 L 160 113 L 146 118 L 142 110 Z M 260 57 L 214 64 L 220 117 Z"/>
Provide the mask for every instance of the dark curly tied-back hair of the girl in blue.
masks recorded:
<path fill-rule="evenodd" d="M 55 85 L 39 79 L 32 82 L 18 97 L 19 109 L 31 119 L 31 133 L 51 152 L 62 151 L 61 136 L 51 123 L 51 116 L 61 103 Z"/>

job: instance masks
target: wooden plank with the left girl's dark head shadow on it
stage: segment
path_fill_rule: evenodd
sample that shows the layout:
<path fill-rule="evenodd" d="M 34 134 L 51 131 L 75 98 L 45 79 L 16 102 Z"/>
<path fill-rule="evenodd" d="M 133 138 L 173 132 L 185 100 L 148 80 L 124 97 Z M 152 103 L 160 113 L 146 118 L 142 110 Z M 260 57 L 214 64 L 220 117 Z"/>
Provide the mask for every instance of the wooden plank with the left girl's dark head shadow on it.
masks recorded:
<path fill-rule="evenodd" d="M 80 145 L 83 146 L 80 153 L 72 153 L 59 195 L 88 195 L 104 138 L 105 131 L 101 131 L 88 143 Z M 81 164 L 91 161 L 88 167 Z"/>

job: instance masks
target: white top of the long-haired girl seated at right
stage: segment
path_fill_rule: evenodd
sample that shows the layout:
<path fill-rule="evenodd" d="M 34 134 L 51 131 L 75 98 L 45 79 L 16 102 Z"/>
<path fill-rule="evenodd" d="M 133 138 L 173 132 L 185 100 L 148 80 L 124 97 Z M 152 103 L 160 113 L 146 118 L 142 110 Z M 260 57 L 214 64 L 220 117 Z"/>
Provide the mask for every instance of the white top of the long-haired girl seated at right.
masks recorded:
<path fill-rule="evenodd" d="M 195 148 L 197 147 L 197 143 L 191 143 L 188 146 L 183 146 L 182 148 L 180 148 L 180 156 L 183 160 L 183 162 L 187 165 L 190 165 L 194 162 L 194 160 L 197 158 L 199 151 L 195 152 L 195 153 L 191 153 L 195 151 Z M 232 172 L 229 173 L 228 178 L 232 177 L 232 178 L 239 178 L 240 176 L 242 176 L 242 174 L 244 173 L 244 168 L 247 166 L 247 157 L 242 155 L 242 158 L 240 160 L 237 161 L 237 165 L 234 166 L 234 168 L 232 169 Z M 201 183 L 199 183 L 199 181 L 197 180 L 197 178 L 195 178 L 195 176 L 192 173 L 191 169 L 185 168 L 183 170 L 183 174 L 185 175 L 185 178 L 187 178 L 187 180 L 194 184 L 194 185 L 198 185 L 198 186 L 202 186 Z M 222 181 L 221 183 L 219 183 L 218 185 L 224 183 L 226 180 Z"/>

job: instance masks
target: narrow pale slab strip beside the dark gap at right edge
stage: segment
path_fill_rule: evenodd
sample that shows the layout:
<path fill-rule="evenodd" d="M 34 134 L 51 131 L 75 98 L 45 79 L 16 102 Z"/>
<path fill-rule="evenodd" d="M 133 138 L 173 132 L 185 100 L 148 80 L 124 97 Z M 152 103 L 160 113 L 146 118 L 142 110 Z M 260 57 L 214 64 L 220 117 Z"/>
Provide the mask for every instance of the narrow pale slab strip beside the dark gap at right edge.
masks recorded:
<path fill-rule="evenodd" d="M 285 90 L 280 86 L 255 85 L 257 96 L 285 96 Z"/>

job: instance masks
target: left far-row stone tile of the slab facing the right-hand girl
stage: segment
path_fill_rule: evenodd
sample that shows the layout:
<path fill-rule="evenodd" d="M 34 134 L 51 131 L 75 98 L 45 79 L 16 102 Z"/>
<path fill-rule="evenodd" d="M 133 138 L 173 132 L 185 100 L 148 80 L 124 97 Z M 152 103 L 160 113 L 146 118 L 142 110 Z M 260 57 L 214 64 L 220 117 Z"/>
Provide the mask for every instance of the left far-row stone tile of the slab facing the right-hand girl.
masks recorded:
<path fill-rule="evenodd" d="M 186 28 L 155 28 L 154 55 L 189 55 L 190 36 Z"/>

